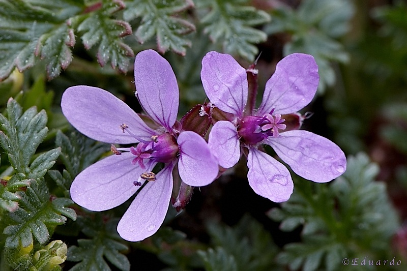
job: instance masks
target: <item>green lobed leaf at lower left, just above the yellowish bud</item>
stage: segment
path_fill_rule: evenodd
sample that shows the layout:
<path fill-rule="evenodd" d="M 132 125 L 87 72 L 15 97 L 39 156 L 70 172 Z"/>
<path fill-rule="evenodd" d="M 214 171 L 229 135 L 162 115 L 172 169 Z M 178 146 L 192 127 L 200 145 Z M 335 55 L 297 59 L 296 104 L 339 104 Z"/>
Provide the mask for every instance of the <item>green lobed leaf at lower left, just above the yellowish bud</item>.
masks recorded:
<path fill-rule="evenodd" d="M 44 182 L 32 180 L 26 191 L 19 191 L 21 197 L 20 207 L 10 213 L 9 226 L 4 229 L 6 248 L 14 249 L 20 244 L 27 247 L 33 243 L 33 236 L 40 244 L 44 244 L 49 238 L 49 231 L 56 225 L 62 225 L 67 217 L 75 220 L 76 213 L 67 205 L 73 204 L 70 199 L 50 200 L 48 188 Z M 65 215 L 65 216 L 63 216 Z"/>

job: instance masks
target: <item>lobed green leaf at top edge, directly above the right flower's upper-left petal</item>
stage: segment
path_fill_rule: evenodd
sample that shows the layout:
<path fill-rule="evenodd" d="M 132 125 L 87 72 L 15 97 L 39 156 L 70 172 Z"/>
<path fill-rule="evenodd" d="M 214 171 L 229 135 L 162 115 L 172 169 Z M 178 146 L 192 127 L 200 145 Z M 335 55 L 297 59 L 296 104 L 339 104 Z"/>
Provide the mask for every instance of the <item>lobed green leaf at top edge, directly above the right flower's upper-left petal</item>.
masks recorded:
<path fill-rule="evenodd" d="M 270 21 L 270 16 L 251 6 L 247 1 L 205 0 L 198 2 L 199 8 L 208 8 L 201 19 L 205 33 L 213 42 L 221 43 L 229 54 L 238 54 L 248 61 L 254 61 L 258 49 L 254 44 L 264 42 L 266 33 L 252 26 Z"/>

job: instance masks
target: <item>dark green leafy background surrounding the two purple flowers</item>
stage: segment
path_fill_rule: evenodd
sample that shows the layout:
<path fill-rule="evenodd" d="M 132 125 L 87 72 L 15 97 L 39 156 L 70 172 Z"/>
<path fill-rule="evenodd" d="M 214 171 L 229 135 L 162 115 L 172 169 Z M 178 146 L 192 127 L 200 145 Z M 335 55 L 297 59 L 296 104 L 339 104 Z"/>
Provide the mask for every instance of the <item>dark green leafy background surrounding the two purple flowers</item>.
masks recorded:
<path fill-rule="evenodd" d="M 0 0 L 0 269 L 405 270 L 406 15 L 390 0 Z M 154 236 L 125 242 L 115 228 L 126 204 L 92 213 L 69 198 L 109 147 L 75 132 L 60 101 L 93 85 L 140 112 L 132 62 L 147 48 L 175 70 L 180 112 L 205 102 L 210 50 L 244 67 L 261 52 L 260 92 L 284 55 L 312 54 L 321 83 L 303 128 L 344 150 L 345 174 L 293 174 L 292 198 L 275 204 L 250 189 L 242 162 L 181 214 L 170 207 Z M 365 257 L 374 265 L 342 264 Z"/>

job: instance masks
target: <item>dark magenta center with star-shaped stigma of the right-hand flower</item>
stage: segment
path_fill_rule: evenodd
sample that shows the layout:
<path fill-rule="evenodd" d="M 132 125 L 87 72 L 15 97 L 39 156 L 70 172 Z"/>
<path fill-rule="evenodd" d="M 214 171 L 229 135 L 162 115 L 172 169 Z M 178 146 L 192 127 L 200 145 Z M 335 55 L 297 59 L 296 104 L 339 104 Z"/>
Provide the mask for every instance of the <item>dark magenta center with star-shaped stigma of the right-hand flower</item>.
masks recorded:
<path fill-rule="evenodd" d="M 286 128 L 280 114 L 272 116 L 273 110 L 264 116 L 245 116 L 239 122 L 238 134 L 241 140 L 255 145 L 269 136 L 278 137 L 279 130 Z"/>

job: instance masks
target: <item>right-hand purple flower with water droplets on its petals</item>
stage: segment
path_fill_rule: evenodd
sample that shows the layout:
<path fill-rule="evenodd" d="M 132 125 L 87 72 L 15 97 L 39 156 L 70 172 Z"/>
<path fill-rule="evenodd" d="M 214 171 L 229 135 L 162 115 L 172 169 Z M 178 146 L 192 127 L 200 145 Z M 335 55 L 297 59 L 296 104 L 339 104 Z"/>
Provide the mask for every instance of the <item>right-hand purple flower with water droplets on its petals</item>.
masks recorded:
<path fill-rule="evenodd" d="M 258 195 L 283 202 L 294 189 L 287 168 L 262 152 L 262 144 L 270 145 L 295 173 L 313 182 L 329 182 L 345 171 L 345 155 L 332 141 L 307 131 L 284 132 L 281 115 L 304 108 L 315 95 L 319 77 L 311 55 L 290 54 L 277 64 L 257 110 L 246 106 L 247 73 L 232 56 L 209 52 L 202 59 L 201 80 L 211 102 L 233 116 L 231 122 L 213 126 L 208 142 L 212 153 L 220 166 L 229 168 L 239 161 L 240 146 L 248 148 L 247 177 Z"/>

